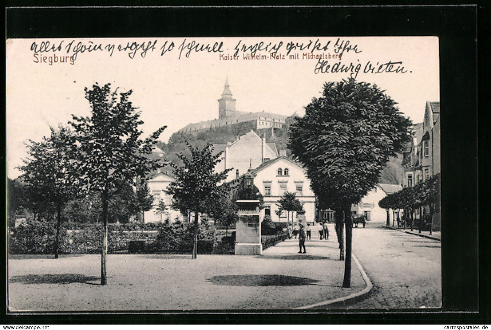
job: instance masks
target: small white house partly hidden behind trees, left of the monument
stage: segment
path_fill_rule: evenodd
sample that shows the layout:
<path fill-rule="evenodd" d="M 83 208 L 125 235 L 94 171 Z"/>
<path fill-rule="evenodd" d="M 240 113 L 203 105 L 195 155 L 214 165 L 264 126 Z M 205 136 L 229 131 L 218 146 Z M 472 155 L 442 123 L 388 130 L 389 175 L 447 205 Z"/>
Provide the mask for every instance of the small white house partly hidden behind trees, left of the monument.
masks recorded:
<path fill-rule="evenodd" d="M 179 211 L 174 211 L 170 208 L 172 204 L 172 195 L 166 194 L 165 190 L 170 182 L 174 181 L 174 177 L 166 173 L 158 173 L 148 181 L 150 194 L 154 197 L 153 207 L 150 211 L 144 213 L 144 221 L 148 222 L 164 222 L 168 219 L 170 222 L 176 220 L 184 221 L 184 216 Z M 164 201 L 167 209 L 163 213 L 157 213 L 157 207 L 160 201 Z"/>

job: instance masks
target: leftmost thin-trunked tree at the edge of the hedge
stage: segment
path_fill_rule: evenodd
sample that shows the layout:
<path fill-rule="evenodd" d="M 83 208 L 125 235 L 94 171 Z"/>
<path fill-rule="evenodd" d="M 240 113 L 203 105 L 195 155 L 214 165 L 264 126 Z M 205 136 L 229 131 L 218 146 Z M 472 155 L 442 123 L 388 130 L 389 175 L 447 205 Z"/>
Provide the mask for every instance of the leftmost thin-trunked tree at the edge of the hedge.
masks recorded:
<path fill-rule="evenodd" d="M 61 210 L 79 194 L 75 159 L 77 148 L 74 136 L 68 127 L 51 128 L 51 135 L 41 142 L 27 142 L 28 158 L 20 170 L 27 183 L 31 198 L 39 206 L 53 206 L 56 210 L 55 258 L 58 258 Z"/>

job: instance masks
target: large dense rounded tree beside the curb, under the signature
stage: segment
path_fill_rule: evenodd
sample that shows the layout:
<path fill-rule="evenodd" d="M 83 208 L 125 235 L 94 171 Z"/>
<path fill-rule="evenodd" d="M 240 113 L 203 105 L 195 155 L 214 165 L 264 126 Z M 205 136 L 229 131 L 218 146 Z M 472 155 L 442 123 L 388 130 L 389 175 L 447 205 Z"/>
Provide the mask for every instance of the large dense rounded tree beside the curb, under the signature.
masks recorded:
<path fill-rule="evenodd" d="M 344 216 L 343 287 L 351 286 L 351 205 L 377 184 L 389 156 L 403 150 L 409 126 L 376 85 L 348 79 L 325 83 L 322 97 L 312 99 L 290 127 L 288 147 L 306 167 L 313 191 Z"/>

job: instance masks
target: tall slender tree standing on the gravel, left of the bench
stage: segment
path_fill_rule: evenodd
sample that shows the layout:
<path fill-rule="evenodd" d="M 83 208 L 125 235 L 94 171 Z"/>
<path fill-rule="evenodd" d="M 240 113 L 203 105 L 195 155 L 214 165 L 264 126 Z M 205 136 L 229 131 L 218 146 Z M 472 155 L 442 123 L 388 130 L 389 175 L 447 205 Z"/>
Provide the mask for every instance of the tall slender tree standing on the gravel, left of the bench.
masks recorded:
<path fill-rule="evenodd" d="M 107 284 L 108 209 L 110 197 L 125 182 L 143 179 L 162 167 L 159 159 L 147 157 L 165 126 L 149 137 L 140 139 L 140 113 L 129 101 L 131 91 L 118 93 L 110 84 L 85 88 L 85 99 L 91 106 L 90 117 L 73 116 L 72 127 L 80 148 L 79 171 L 84 188 L 101 194 L 103 241 L 101 284 Z"/>

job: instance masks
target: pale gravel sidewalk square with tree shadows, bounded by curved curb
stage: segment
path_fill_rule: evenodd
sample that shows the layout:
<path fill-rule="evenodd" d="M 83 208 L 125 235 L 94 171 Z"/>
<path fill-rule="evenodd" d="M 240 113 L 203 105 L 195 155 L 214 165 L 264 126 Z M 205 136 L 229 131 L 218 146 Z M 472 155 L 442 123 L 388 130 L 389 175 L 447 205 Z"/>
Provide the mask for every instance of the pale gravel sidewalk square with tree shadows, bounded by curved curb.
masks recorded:
<path fill-rule="evenodd" d="M 9 308 L 33 311 L 292 310 L 366 290 L 357 263 L 352 287 L 342 288 L 333 231 L 314 236 L 299 254 L 298 240 L 261 256 L 109 254 L 108 285 L 99 285 L 100 255 L 10 258 Z M 354 258 L 355 259 L 355 258 Z M 326 308 L 326 304 L 321 308 Z M 339 308 L 342 308 L 339 307 Z"/>

